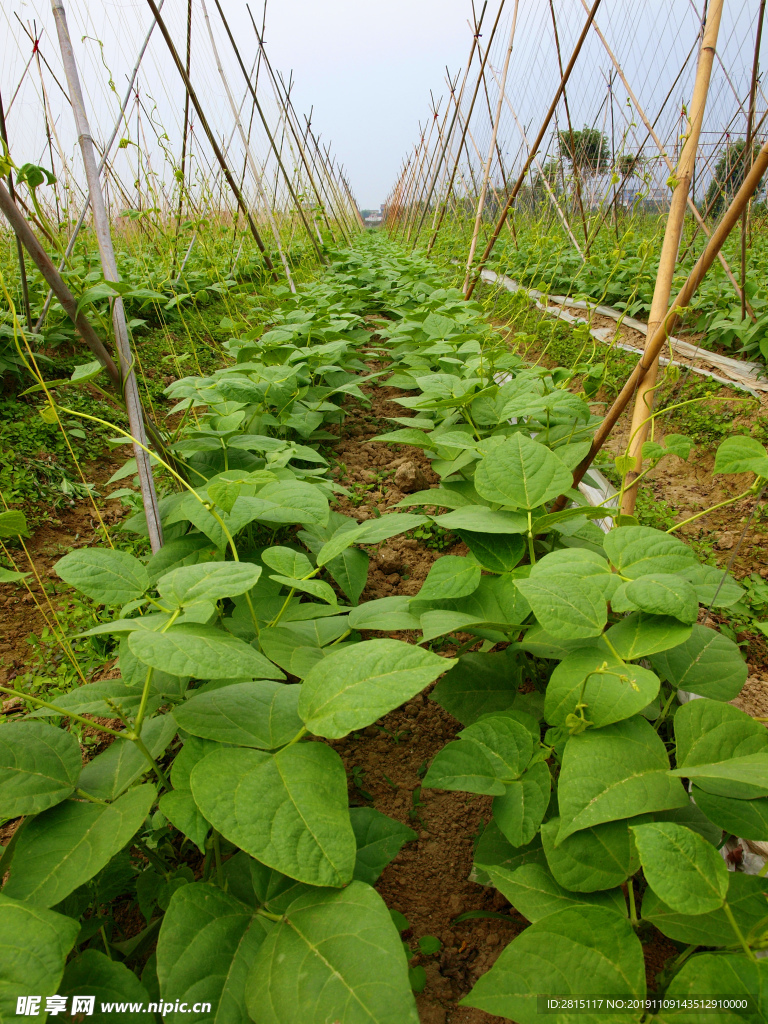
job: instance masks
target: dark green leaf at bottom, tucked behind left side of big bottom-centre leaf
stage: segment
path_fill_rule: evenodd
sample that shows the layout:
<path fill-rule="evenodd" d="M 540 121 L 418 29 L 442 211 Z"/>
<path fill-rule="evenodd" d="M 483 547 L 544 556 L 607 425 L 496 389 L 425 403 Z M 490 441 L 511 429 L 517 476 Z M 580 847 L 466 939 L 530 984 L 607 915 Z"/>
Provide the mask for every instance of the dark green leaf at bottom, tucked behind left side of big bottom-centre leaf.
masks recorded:
<path fill-rule="evenodd" d="M 177 889 L 158 939 L 160 994 L 166 1002 L 209 1002 L 212 1009 L 171 1011 L 165 1019 L 247 1024 L 248 973 L 270 928 L 266 918 L 208 883 Z"/>

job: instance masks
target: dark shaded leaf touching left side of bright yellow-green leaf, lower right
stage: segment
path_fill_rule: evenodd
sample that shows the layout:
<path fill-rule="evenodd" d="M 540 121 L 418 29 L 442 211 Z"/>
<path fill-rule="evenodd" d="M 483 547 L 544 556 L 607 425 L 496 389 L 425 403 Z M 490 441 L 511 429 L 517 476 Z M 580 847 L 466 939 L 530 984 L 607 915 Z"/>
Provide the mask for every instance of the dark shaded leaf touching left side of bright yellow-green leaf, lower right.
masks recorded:
<path fill-rule="evenodd" d="M 559 828 L 559 818 L 545 822 L 542 844 L 549 869 L 565 889 L 582 893 L 614 889 L 640 867 L 626 820 L 585 828 L 555 846 Z"/>

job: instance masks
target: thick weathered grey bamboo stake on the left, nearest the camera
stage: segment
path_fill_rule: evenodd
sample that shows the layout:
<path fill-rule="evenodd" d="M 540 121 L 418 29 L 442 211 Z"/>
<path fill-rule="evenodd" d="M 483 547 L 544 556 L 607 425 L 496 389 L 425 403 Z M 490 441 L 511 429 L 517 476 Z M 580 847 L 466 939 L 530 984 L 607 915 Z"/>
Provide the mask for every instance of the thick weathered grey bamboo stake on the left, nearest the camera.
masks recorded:
<path fill-rule="evenodd" d="M 80 88 L 80 77 L 77 65 L 75 63 L 75 53 L 72 49 L 70 32 L 67 27 L 67 14 L 65 12 L 62 0 L 51 0 L 53 17 L 56 23 L 58 33 L 58 45 L 61 50 L 61 60 L 67 73 L 67 82 L 70 88 L 70 99 L 72 110 L 75 115 L 77 125 L 78 140 L 80 151 L 83 155 L 85 174 L 88 181 L 88 191 L 90 194 L 91 210 L 93 211 L 93 224 L 98 241 L 98 251 L 101 256 L 101 267 L 106 281 L 119 282 L 120 274 L 115 260 L 115 250 L 112 245 L 110 233 L 110 222 L 104 206 L 104 198 L 101 193 L 101 183 L 98 177 L 96 157 L 93 150 L 88 118 L 85 113 L 83 93 Z M 163 546 L 163 526 L 160 521 L 158 509 L 158 497 L 155 492 L 155 481 L 152 475 L 152 464 L 146 452 L 146 433 L 144 430 L 143 410 L 141 409 L 141 398 L 138 393 L 138 383 L 133 370 L 133 355 L 131 353 L 131 343 L 128 336 L 128 325 L 125 319 L 125 309 L 123 299 L 117 296 L 112 305 L 112 322 L 115 329 L 115 341 L 118 354 L 120 356 L 120 372 L 125 391 L 125 404 L 128 413 L 128 423 L 133 437 L 133 452 L 136 457 L 136 468 L 141 486 L 141 497 L 144 503 L 146 514 L 146 526 L 150 534 L 150 543 L 153 553 L 159 551 Z"/>

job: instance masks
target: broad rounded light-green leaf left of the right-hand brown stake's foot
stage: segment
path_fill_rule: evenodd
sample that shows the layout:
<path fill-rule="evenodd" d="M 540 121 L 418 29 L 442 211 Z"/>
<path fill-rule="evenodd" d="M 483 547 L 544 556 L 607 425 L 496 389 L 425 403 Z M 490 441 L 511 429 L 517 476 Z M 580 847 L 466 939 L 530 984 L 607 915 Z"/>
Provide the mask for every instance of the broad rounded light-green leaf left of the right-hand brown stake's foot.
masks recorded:
<path fill-rule="evenodd" d="M 475 489 L 489 502 L 535 509 L 572 485 L 570 470 L 548 447 L 513 434 L 477 466 Z"/>

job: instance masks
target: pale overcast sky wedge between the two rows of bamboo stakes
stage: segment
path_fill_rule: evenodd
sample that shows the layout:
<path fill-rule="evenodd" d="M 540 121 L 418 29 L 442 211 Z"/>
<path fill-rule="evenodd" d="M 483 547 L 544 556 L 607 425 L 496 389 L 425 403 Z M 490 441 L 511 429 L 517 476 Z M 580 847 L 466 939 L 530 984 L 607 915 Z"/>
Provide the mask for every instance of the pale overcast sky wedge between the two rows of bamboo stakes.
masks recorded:
<path fill-rule="evenodd" d="M 242 5 L 222 6 L 237 17 Z M 386 199 L 445 65 L 456 75 L 466 62 L 471 15 L 470 0 L 269 0 L 270 59 L 295 70 L 296 105 L 314 103 L 361 207 Z"/>

